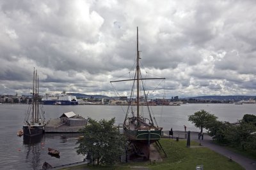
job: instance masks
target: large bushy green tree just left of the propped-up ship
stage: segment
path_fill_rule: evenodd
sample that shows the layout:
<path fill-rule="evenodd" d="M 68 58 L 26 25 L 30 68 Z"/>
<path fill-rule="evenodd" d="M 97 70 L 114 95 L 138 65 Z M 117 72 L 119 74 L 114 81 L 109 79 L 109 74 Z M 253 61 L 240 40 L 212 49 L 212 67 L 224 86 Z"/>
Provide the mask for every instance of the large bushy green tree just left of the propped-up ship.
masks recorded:
<path fill-rule="evenodd" d="M 88 125 L 81 129 L 84 138 L 77 141 L 78 154 L 88 155 L 100 165 L 113 165 L 124 153 L 125 138 L 114 126 L 115 118 L 97 122 L 88 118 Z"/>

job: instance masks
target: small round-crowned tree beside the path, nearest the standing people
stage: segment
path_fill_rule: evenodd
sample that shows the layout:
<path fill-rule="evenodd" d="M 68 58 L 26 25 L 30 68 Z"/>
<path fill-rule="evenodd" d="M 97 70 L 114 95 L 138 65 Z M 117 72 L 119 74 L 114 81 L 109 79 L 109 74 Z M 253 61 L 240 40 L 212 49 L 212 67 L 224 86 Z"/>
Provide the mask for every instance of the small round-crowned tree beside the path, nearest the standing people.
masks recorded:
<path fill-rule="evenodd" d="M 200 110 L 196 111 L 194 115 L 189 115 L 188 121 L 192 122 L 193 124 L 195 124 L 196 127 L 200 128 L 200 134 L 202 134 L 203 129 L 207 129 L 207 126 L 209 127 L 211 122 L 215 122 L 217 118 L 218 117 L 215 117 L 214 115 L 205 110 Z"/>

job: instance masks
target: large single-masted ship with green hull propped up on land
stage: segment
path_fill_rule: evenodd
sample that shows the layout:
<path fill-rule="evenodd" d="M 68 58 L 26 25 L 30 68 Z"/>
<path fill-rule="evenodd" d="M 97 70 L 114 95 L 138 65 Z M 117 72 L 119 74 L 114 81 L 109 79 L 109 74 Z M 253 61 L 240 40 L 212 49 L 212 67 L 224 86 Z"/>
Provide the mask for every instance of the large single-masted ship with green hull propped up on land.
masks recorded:
<path fill-rule="evenodd" d="M 146 80 L 154 80 L 165 78 L 143 78 L 140 70 L 140 54 L 138 49 L 138 27 L 137 27 L 137 53 L 136 53 L 136 70 L 132 79 L 117 80 L 117 81 L 132 81 L 131 96 L 129 99 L 129 106 L 125 115 L 123 124 L 124 134 L 129 141 L 143 153 L 145 159 L 149 159 L 149 146 L 161 139 L 161 133 L 163 127 L 158 127 L 157 122 L 152 118 L 152 114 L 149 108 L 148 97 L 145 92 Z M 117 81 L 110 81 L 111 83 Z M 141 89 L 141 90 L 140 90 Z M 142 92 L 143 96 L 140 95 Z M 132 98 L 132 94 L 135 94 Z M 142 101 L 143 100 L 143 101 Z M 143 103 L 143 104 L 142 104 Z M 144 105 L 144 106 L 143 106 Z M 145 117 L 143 111 L 147 107 L 148 118 Z M 154 124 L 155 122 L 155 124 Z"/>

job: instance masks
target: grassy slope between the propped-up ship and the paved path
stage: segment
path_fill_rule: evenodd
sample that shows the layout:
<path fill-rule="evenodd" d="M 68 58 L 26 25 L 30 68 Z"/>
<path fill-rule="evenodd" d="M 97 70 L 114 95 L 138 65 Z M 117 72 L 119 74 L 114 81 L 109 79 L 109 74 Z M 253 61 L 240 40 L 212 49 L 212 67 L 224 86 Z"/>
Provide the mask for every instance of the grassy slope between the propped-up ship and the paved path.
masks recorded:
<path fill-rule="evenodd" d="M 167 158 L 163 160 L 161 169 L 195 169 L 196 165 L 203 165 L 204 169 L 243 169 L 236 162 L 230 162 L 227 157 L 215 153 L 212 150 L 198 146 L 198 143 L 192 142 L 191 148 L 186 148 L 186 141 L 179 142 L 161 139 Z M 168 148 L 168 146 L 170 146 Z M 168 148 L 168 149 L 167 149 Z M 153 166 L 152 169 L 159 167 Z"/>

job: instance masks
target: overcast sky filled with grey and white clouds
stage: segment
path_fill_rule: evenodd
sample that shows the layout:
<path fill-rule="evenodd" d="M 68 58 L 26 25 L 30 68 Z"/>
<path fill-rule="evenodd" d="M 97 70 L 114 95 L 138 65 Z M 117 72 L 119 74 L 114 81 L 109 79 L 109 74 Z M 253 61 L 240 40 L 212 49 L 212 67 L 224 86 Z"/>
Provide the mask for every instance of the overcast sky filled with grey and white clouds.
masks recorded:
<path fill-rule="evenodd" d="M 139 29 L 141 63 L 166 78 L 154 95 L 256 95 L 256 1 L 0 1 L 0 94 L 116 96 Z M 155 87 L 158 85 L 156 83 Z M 120 95 L 129 85 L 115 84 Z M 154 85 L 152 85 L 153 88 Z"/>

